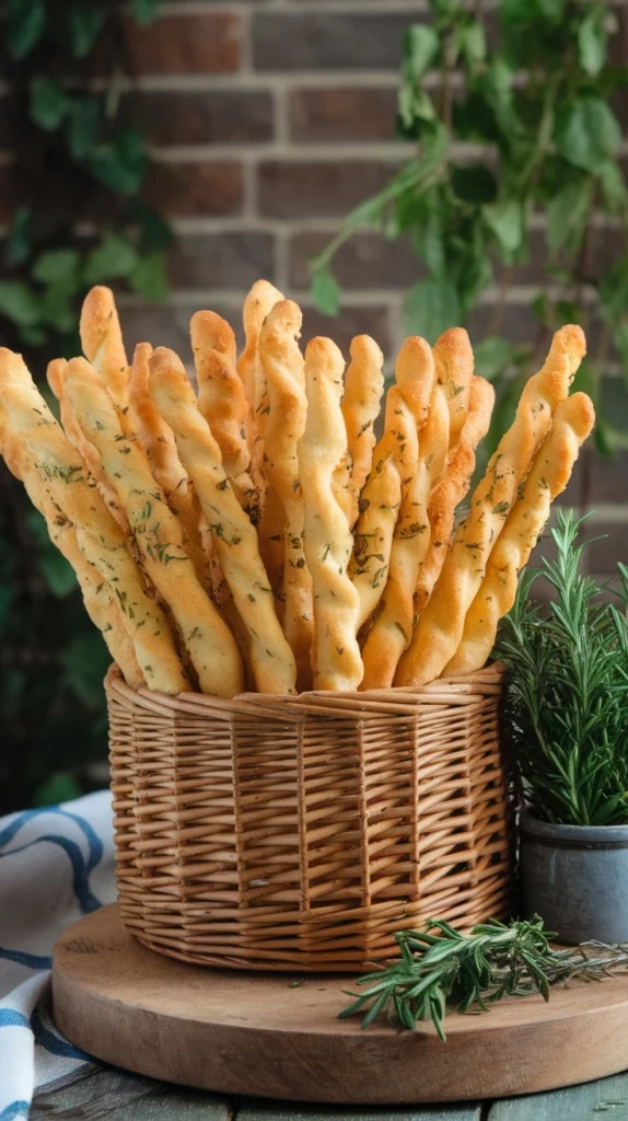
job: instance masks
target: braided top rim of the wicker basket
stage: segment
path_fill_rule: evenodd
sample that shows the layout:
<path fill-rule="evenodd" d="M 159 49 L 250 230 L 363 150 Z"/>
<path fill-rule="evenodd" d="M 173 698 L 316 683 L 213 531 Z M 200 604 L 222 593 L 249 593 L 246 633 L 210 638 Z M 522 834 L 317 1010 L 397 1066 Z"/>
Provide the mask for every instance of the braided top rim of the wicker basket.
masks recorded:
<path fill-rule="evenodd" d="M 443 677 L 416 688 L 412 685 L 364 692 L 311 691 L 297 696 L 271 693 L 242 693 L 231 700 L 205 693 L 179 693 L 169 696 L 152 689 L 133 689 L 126 685 L 118 666 L 113 664 L 105 677 L 105 689 L 120 700 L 153 711 L 178 711 L 200 715 L 212 713 L 215 719 L 229 720 L 234 715 L 266 715 L 302 720 L 304 713 L 318 716 L 355 716 L 367 713 L 404 713 L 416 705 L 470 704 L 486 696 L 500 693 L 506 677 L 504 663 L 495 661 L 482 669 L 459 677 Z"/>

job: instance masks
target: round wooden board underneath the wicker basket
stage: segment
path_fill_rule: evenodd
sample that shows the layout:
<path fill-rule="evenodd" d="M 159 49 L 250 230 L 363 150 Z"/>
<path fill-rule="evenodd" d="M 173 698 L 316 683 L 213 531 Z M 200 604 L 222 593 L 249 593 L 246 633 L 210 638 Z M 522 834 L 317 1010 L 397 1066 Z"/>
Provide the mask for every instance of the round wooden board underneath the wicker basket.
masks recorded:
<path fill-rule="evenodd" d="M 489 1012 L 399 1031 L 338 1020 L 355 976 L 186 965 L 146 949 L 103 907 L 55 947 L 58 1028 L 96 1058 L 200 1090 L 352 1103 L 505 1097 L 628 1067 L 628 978 L 573 982 Z"/>

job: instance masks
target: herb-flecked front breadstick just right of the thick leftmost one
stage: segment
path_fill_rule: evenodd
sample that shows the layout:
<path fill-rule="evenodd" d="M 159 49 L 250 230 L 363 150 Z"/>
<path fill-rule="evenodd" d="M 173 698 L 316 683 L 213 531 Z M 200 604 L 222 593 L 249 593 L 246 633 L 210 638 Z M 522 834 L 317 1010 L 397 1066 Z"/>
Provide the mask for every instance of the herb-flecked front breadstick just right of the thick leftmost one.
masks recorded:
<path fill-rule="evenodd" d="M 170 608 L 203 693 L 232 697 L 243 684 L 234 638 L 198 582 L 179 522 L 156 483 L 148 458 L 120 426 L 104 380 L 84 359 L 67 368 L 65 390 L 97 448 L 140 550 L 142 565 Z M 190 387 L 191 392 L 191 387 Z"/>

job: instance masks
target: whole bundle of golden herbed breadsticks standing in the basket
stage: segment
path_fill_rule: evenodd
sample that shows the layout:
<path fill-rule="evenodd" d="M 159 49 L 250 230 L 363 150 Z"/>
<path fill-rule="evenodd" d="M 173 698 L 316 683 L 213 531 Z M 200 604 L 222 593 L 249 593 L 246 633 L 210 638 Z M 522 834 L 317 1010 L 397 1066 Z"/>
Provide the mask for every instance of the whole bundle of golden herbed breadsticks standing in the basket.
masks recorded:
<path fill-rule="evenodd" d="M 54 411 L 0 350 L 0 450 L 126 683 L 233 697 L 484 666 L 593 426 L 569 396 L 580 327 L 554 335 L 468 497 L 494 390 L 465 331 L 405 340 L 376 438 L 373 339 L 346 369 L 329 339 L 302 352 L 299 307 L 264 280 L 243 319 L 237 355 L 224 319 L 193 316 L 196 391 L 170 350 L 142 343 L 129 364 L 113 295 L 94 288 L 83 356 L 48 367 Z"/>

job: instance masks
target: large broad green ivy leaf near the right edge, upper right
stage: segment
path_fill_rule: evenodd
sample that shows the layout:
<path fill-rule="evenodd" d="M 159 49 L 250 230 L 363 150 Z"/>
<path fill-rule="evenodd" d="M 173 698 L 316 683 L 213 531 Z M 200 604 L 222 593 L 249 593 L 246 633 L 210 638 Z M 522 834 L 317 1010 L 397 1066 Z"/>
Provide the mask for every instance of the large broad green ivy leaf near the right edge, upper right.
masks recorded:
<path fill-rule="evenodd" d="M 607 103 L 587 94 L 559 113 L 554 142 L 569 164 L 596 173 L 601 163 L 616 155 L 621 129 Z"/>

